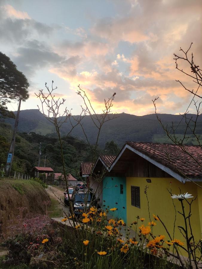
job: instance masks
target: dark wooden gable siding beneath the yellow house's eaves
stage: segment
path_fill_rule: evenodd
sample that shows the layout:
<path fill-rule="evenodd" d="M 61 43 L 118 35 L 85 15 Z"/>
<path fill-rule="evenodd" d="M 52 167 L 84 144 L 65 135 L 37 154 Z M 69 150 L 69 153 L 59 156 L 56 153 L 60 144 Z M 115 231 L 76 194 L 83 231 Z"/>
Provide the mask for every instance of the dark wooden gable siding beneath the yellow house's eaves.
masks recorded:
<path fill-rule="evenodd" d="M 126 149 L 117 161 L 110 175 L 124 175 L 126 177 L 148 177 L 148 178 L 172 178 L 154 164 Z"/>

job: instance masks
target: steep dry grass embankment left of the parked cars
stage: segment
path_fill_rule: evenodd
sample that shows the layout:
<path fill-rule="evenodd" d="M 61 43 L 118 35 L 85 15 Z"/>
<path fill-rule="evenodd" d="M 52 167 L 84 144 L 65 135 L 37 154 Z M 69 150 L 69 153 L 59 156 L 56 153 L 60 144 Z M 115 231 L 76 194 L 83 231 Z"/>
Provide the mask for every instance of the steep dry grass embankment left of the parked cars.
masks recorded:
<path fill-rule="evenodd" d="M 7 226 L 17 221 L 21 215 L 20 207 L 25 207 L 23 216 L 27 213 L 44 214 L 43 201 L 50 201 L 45 189 L 31 180 L 0 179 L 0 232 L 5 232 Z"/>

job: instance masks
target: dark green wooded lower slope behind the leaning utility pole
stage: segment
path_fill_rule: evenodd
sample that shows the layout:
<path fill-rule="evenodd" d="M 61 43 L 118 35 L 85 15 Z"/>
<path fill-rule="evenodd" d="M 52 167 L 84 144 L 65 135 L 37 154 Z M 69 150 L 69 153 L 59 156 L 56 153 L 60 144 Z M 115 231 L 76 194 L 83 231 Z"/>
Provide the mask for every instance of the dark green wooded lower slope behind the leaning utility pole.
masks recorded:
<path fill-rule="evenodd" d="M 1 123 L 0 134 L 0 165 L 5 165 L 12 137 L 11 127 Z M 54 172 L 62 172 L 60 146 L 56 137 L 39 135 L 34 132 L 17 133 L 12 164 L 13 171 L 27 173 L 33 166 L 38 166 L 40 142 L 42 143 L 40 166 L 45 164 L 47 167 L 52 167 Z M 77 177 L 81 161 L 89 156 L 88 145 L 82 140 L 68 137 L 63 143 L 63 151 L 67 172 Z"/>

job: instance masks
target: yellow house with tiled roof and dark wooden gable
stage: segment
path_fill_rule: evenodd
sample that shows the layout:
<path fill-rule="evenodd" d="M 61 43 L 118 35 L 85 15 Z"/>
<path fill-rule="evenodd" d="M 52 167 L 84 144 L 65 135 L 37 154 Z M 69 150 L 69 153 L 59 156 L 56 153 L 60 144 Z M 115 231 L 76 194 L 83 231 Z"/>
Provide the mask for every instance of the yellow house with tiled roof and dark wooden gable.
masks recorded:
<path fill-rule="evenodd" d="M 185 242 L 177 226 L 184 227 L 181 203 L 172 199 L 172 194 L 188 192 L 194 198 L 191 210 L 191 225 L 195 240 L 202 233 L 202 149 L 186 146 L 186 152 L 179 146 L 160 143 L 126 142 L 112 163 L 111 175 L 126 177 L 127 224 L 137 221 L 137 216 L 145 218 L 143 224 L 154 221 L 158 215 L 174 239 Z M 146 194 L 147 196 L 146 196 Z M 148 198 L 148 200 L 147 200 Z M 189 198 L 187 201 L 191 202 Z M 189 214 L 189 204 L 183 200 L 185 212 Z M 176 218 L 176 220 L 175 220 Z M 140 225 L 142 224 L 139 220 Z M 154 236 L 165 235 L 160 221 L 155 221 Z M 174 229 L 175 227 L 175 229 Z"/>

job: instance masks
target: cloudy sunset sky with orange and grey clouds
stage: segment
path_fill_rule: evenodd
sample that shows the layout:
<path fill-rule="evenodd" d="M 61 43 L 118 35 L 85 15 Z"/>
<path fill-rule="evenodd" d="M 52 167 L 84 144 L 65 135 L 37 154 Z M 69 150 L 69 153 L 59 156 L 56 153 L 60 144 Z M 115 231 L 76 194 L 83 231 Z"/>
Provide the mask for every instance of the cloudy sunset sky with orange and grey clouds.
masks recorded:
<path fill-rule="evenodd" d="M 21 109 L 37 108 L 34 92 L 54 80 L 72 114 L 82 104 L 79 84 L 96 112 L 116 92 L 113 112 L 154 113 L 160 96 L 157 111 L 178 114 L 193 96 L 175 80 L 196 85 L 175 69 L 173 53 L 193 42 L 201 64 L 201 15 L 201 0 L 0 0 L 0 51 L 29 80 Z"/>

